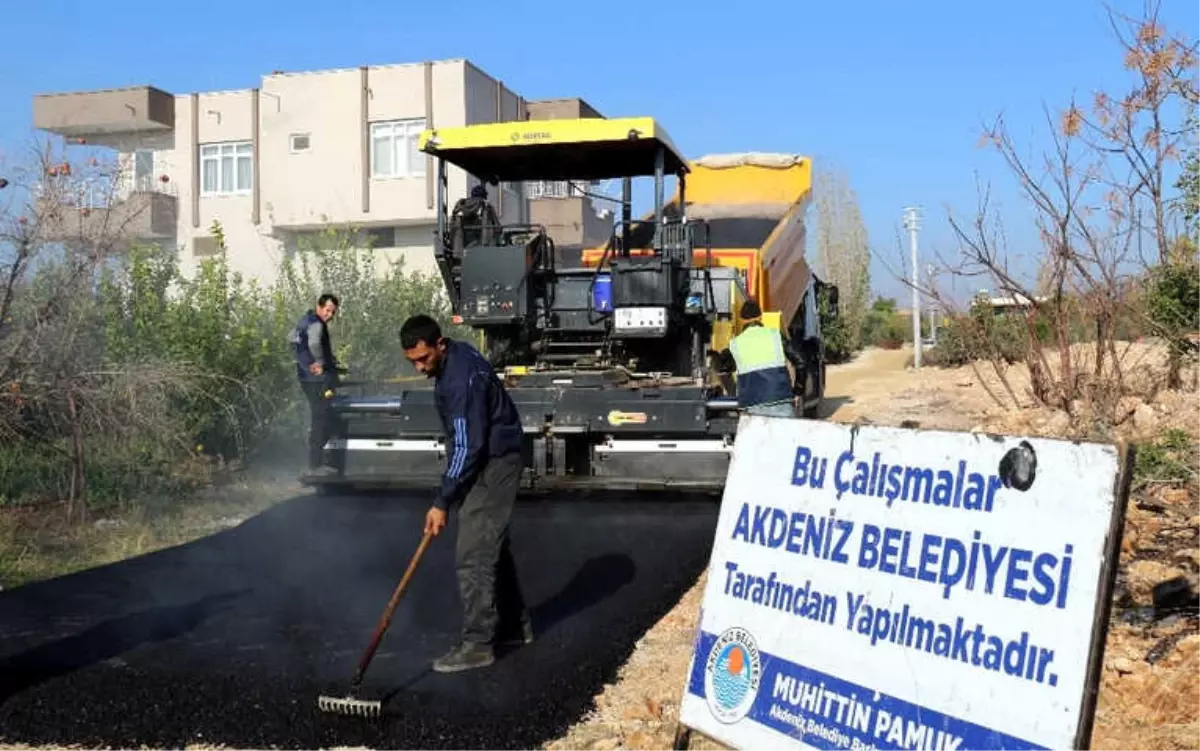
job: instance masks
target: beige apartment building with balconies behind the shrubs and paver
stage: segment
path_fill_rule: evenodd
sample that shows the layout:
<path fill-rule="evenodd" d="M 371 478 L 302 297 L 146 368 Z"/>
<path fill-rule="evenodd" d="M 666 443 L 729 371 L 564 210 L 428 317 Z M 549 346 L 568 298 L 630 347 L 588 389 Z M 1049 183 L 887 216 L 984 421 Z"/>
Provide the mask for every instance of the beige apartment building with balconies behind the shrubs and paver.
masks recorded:
<path fill-rule="evenodd" d="M 107 220 L 130 240 L 178 247 L 188 272 L 216 250 L 220 221 L 230 266 L 269 282 L 306 235 L 330 224 L 361 228 L 382 262 L 433 271 L 434 169 L 416 149 L 421 131 L 581 116 L 572 112 L 600 116 L 580 100 L 526 102 L 472 62 L 442 60 L 274 72 L 235 91 L 44 94 L 34 124 L 120 157 L 118 190 L 104 205 L 73 208 L 79 216 L 59 222 L 62 239 Z M 476 182 L 457 169 L 448 179 L 451 204 Z M 611 222 L 600 228 L 589 199 L 546 186 L 534 187 L 532 202 L 524 185 L 488 190 L 502 221 L 542 221 L 568 235 L 560 244 L 608 235 Z"/>

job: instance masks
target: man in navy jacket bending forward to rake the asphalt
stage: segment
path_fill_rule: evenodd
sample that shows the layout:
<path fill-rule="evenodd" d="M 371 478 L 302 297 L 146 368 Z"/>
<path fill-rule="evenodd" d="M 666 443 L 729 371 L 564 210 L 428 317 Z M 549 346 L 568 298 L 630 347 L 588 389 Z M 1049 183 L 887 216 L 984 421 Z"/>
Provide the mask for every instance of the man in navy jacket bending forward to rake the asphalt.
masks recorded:
<path fill-rule="evenodd" d="M 462 643 L 433 662 L 439 673 L 487 667 L 497 644 L 533 641 L 509 518 L 521 481 L 521 417 L 484 355 L 442 336 L 428 316 L 400 330 L 408 361 L 434 380 L 434 402 L 446 433 L 446 468 L 425 530 L 438 535 L 458 505 L 457 573 L 463 603 Z"/>

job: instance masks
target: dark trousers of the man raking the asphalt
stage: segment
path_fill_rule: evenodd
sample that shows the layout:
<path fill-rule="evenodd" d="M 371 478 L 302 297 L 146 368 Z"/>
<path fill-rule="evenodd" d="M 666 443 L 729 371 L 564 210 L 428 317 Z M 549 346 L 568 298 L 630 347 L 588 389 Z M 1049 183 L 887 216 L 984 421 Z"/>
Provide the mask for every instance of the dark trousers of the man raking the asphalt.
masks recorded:
<path fill-rule="evenodd" d="M 509 518 L 521 482 L 521 455 L 492 457 L 458 510 L 457 571 L 463 641 L 520 635 L 528 618 L 509 549 Z"/>

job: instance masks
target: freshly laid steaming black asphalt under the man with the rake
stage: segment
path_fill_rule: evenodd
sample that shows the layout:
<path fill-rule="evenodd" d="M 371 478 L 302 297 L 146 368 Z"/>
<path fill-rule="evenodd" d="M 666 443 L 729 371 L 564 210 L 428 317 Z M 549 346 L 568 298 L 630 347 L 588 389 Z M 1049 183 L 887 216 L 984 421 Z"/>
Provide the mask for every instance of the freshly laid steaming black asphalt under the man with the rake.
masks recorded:
<path fill-rule="evenodd" d="M 190 545 L 0 594 L 0 739 L 535 747 L 582 716 L 695 582 L 716 521 L 703 500 L 522 504 L 514 552 L 539 638 L 485 671 L 439 675 L 430 661 L 460 625 L 451 517 L 367 672 L 384 716 L 319 713 L 319 693 L 346 693 L 425 509 L 298 498 Z"/>

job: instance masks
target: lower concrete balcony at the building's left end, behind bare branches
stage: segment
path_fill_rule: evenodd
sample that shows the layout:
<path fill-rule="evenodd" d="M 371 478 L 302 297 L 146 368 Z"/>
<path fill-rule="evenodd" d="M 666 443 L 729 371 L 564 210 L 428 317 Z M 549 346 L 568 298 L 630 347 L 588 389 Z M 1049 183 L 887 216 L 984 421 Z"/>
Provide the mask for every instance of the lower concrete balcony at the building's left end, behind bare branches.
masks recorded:
<path fill-rule="evenodd" d="M 37 215 L 43 239 L 50 242 L 124 245 L 170 240 L 175 236 L 179 202 L 154 190 L 130 191 L 110 200 L 71 200 L 42 194 Z"/>

